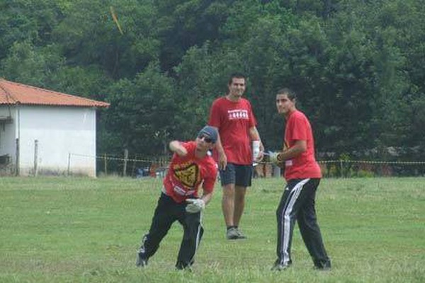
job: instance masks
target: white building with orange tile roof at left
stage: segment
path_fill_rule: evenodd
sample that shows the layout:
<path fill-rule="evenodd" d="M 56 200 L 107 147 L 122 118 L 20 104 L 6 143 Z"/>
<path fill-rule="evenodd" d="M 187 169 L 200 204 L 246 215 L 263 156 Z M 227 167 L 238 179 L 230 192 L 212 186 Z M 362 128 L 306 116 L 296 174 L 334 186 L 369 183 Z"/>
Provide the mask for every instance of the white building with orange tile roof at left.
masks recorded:
<path fill-rule="evenodd" d="M 108 103 L 0 78 L 0 173 L 96 176 L 96 108 Z"/>

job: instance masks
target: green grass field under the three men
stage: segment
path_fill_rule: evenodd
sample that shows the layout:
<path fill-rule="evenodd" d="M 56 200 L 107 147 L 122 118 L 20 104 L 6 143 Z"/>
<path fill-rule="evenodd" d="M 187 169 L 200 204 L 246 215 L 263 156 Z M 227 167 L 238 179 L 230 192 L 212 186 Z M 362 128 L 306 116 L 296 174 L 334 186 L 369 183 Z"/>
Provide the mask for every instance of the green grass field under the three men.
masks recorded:
<path fill-rule="evenodd" d="M 317 214 L 330 272 L 312 269 L 297 228 L 293 267 L 270 271 L 277 178 L 249 189 L 248 239 L 225 240 L 217 185 L 193 272 L 174 270 L 178 223 L 137 269 L 160 187 L 149 178 L 0 178 L 0 282 L 425 282 L 425 178 L 322 180 Z"/>

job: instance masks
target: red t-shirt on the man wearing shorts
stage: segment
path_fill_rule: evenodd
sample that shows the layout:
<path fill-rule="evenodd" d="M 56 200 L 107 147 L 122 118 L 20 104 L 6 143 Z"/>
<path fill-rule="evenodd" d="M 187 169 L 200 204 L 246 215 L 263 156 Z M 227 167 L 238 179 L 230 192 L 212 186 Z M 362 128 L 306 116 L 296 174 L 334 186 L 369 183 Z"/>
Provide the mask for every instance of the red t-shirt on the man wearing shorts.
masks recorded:
<path fill-rule="evenodd" d="M 248 100 L 239 98 L 234 102 L 225 97 L 217 98 L 212 103 L 208 125 L 217 127 L 227 162 L 252 164 L 249 129 L 255 127 L 256 119 Z"/>

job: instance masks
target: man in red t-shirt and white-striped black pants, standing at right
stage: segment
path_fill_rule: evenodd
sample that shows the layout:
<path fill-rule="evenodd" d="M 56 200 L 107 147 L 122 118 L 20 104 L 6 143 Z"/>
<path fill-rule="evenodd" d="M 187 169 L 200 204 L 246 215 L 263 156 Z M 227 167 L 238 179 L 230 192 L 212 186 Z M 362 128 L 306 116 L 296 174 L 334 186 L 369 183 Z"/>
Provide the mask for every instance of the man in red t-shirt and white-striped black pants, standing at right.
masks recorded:
<path fill-rule="evenodd" d="M 287 184 L 276 210 L 278 258 L 272 270 L 284 270 L 292 264 L 290 247 L 295 220 L 298 222 L 302 240 L 312 257 L 314 267 L 329 270 L 331 260 L 324 248 L 314 209 L 314 199 L 322 173 L 314 158 L 312 127 L 304 113 L 297 110 L 295 102 L 296 94 L 289 88 L 278 91 L 276 107 L 286 120 L 285 144 L 283 151 L 270 154 L 270 159 L 278 164 L 285 163 Z"/>

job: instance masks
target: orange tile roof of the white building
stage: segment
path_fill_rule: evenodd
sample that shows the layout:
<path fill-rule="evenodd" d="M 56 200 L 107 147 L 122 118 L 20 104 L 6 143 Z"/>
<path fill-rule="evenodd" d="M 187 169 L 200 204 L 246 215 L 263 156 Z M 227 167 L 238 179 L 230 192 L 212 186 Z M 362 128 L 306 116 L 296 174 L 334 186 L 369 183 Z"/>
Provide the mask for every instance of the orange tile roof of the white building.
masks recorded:
<path fill-rule="evenodd" d="M 55 105 L 79 107 L 108 107 L 109 103 L 26 86 L 0 78 L 0 105 Z"/>

